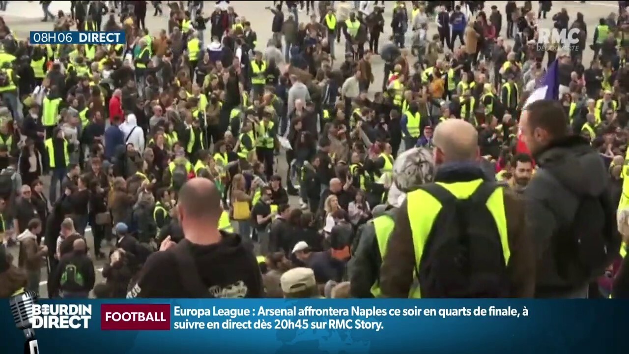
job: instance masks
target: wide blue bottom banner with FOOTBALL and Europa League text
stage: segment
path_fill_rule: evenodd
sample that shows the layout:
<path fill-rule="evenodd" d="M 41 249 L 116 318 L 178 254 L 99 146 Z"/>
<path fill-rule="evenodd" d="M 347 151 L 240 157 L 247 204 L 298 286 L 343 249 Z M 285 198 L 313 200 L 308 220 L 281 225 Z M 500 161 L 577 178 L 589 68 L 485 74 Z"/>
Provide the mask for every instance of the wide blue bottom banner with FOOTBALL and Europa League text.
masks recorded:
<path fill-rule="evenodd" d="M 628 353 L 620 300 L 40 300 L 39 353 Z M 0 305 L 2 353 L 25 341 Z M 4 350 L 4 349 L 8 350 Z"/>

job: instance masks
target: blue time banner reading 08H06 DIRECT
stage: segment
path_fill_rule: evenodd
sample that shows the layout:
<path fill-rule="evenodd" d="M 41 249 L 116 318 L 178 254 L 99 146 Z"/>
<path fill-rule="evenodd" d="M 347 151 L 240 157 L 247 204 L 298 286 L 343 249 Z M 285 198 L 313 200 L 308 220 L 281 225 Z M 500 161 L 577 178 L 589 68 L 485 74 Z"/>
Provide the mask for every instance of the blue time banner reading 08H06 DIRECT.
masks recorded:
<path fill-rule="evenodd" d="M 31 31 L 31 44 L 125 44 L 124 31 Z"/>

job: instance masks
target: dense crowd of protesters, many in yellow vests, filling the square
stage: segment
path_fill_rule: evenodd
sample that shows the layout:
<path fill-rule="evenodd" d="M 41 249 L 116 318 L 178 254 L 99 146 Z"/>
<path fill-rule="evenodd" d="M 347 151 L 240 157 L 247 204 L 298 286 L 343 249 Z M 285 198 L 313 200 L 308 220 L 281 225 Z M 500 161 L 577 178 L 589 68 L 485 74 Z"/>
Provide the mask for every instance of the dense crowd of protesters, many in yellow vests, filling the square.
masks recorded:
<path fill-rule="evenodd" d="M 554 241 L 557 229 L 574 231 L 565 221 L 574 215 L 557 216 L 582 210 L 574 195 L 607 195 L 613 210 L 604 215 L 614 217 L 623 203 L 624 7 L 587 28 L 582 13 L 553 13 L 552 1 L 540 1 L 537 13 L 531 1 L 508 1 L 504 11 L 484 1 L 387 2 L 391 21 L 384 1 L 318 1 L 316 8 L 276 1 L 267 7 L 272 39 L 259 43 L 256 31 L 267 29 L 252 28 L 229 2 L 217 2 L 208 16 L 203 1 L 169 3 L 159 35 L 145 26 L 146 1 L 113 3 L 73 2 L 72 14 L 45 20 L 58 31 L 124 30 L 126 45 L 29 45 L 0 21 L 1 227 L 6 248 L 19 247 L 15 266 L 1 268 L 1 295 L 14 284 L 39 292 L 47 271 L 49 297 L 204 297 L 182 290 L 199 288 L 196 276 L 172 266 L 189 254 L 167 254 L 203 238 L 195 227 L 206 224 L 194 220 L 203 203 L 216 202 L 220 212 L 210 206 L 205 222 L 223 236 L 214 234 L 216 249 L 193 249 L 204 256 L 191 264 L 203 265 L 198 278 L 211 297 L 419 297 L 414 279 L 423 297 L 628 296 L 629 272 L 619 271 L 625 244 L 603 269 L 572 272 L 564 268 L 576 261 L 559 256 Z M 152 3 L 155 16 L 168 11 Z M 536 19 L 547 15 L 558 30 L 578 28 L 579 43 L 540 42 Z M 437 33 L 429 36 L 433 23 Z M 586 50 L 594 52 L 591 62 L 582 61 Z M 384 62 L 382 83 L 374 83 L 374 57 Z M 526 98 L 552 65 L 560 106 L 533 104 L 523 118 Z M 533 112 L 559 113 L 547 120 L 552 125 Z M 542 139 L 543 148 L 533 149 L 532 140 L 522 147 L 523 124 L 533 124 L 530 139 Z M 565 149 L 579 152 L 548 156 L 555 140 L 569 139 Z M 553 157 L 565 162 L 552 169 L 560 169 L 553 183 L 561 190 L 542 173 Z M 504 193 L 509 237 L 501 238 L 508 246 L 498 247 L 497 262 L 507 263 L 499 280 L 508 278 L 506 290 L 445 290 L 454 261 L 431 263 L 434 274 L 419 270 L 421 218 L 408 213 L 439 208 L 418 202 L 416 190 L 459 181 L 451 178 L 462 165 L 472 181 L 492 181 L 499 189 L 489 192 Z M 542 187 L 528 188 L 532 180 Z M 565 205 L 548 214 L 538 207 L 530 222 L 523 200 L 547 198 L 540 189 L 565 191 L 548 197 Z M 535 232 L 542 241 L 525 234 L 538 228 L 546 228 Z M 253 273 L 245 269 L 251 253 Z M 496 265 L 482 258 L 479 271 Z M 101 284 L 95 260 L 107 260 Z M 555 264 L 561 261 L 567 265 Z M 217 269 L 242 278 L 221 278 Z"/>

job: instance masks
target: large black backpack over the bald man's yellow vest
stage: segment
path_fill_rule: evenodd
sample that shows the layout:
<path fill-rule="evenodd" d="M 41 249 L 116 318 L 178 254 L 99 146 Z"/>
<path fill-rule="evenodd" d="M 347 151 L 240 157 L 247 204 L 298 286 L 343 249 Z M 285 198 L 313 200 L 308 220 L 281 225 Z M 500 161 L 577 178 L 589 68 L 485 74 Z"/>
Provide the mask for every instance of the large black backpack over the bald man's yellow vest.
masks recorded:
<path fill-rule="evenodd" d="M 467 199 L 438 184 L 424 185 L 442 204 L 417 269 L 422 297 L 501 298 L 509 295 L 503 245 L 487 208 L 496 183 L 483 182 Z"/>

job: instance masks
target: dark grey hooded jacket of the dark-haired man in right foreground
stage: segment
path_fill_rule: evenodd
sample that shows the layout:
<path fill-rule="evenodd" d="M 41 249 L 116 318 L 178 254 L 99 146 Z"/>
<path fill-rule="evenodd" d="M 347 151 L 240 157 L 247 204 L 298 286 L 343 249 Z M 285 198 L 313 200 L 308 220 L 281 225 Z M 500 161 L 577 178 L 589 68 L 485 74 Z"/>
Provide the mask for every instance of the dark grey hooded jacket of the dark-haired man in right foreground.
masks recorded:
<path fill-rule="evenodd" d="M 539 166 L 524 192 L 526 223 L 536 246 L 535 297 L 567 298 L 586 293 L 591 279 L 571 283 L 557 272 L 555 246 L 574 222 L 583 196 L 598 197 L 610 185 L 603 159 L 581 137 L 568 137 L 536 156 Z"/>

